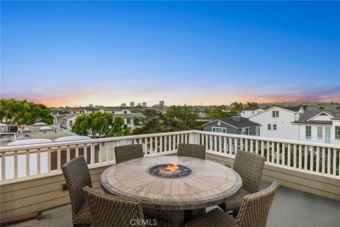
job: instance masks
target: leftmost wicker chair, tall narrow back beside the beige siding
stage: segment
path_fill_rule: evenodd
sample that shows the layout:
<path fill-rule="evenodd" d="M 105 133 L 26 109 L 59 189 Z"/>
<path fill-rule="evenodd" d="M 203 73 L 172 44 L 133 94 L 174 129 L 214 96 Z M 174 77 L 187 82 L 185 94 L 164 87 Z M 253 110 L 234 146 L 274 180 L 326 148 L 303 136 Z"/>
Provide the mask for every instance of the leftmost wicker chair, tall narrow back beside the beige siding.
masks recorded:
<path fill-rule="evenodd" d="M 69 198 L 72 205 L 73 226 L 91 226 L 91 217 L 86 206 L 83 187 L 92 187 L 91 175 L 84 156 L 79 156 L 62 166 Z"/>

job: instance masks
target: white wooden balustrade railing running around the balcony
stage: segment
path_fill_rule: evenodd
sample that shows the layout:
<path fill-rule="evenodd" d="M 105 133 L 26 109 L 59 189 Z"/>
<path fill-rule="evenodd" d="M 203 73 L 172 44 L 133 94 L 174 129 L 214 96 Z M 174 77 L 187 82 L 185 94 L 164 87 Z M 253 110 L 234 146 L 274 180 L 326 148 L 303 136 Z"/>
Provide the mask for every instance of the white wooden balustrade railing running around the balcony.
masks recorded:
<path fill-rule="evenodd" d="M 265 156 L 267 165 L 340 178 L 339 145 L 252 135 L 179 131 L 3 147 L 0 148 L 0 184 L 59 175 L 64 162 L 79 155 L 84 155 L 89 168 L 113 165 L 114 147 L 135 143 L 143 145 L 145 156 L 176 153 L 178 143 L 205 145 L 207 153 L 231 158 L 234 158 L 237 150 L 242 149 Z"/>

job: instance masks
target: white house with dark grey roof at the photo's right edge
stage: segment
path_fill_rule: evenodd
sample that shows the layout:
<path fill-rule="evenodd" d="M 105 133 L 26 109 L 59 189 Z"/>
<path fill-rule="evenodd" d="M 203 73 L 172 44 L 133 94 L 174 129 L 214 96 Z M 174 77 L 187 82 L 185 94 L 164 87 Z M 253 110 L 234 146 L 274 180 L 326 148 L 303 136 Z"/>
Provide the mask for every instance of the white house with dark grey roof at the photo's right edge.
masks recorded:
<path fill-rule="evenodd" d="M 306 110 L 297 125 L 300 140 L 340 144 L 340 110 Z"/>

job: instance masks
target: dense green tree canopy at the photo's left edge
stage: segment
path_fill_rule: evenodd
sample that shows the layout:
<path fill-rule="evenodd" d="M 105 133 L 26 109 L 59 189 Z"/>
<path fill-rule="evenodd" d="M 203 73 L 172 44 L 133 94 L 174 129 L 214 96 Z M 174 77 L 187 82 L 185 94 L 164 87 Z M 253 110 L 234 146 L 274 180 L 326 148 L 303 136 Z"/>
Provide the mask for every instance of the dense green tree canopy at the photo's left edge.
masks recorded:
<path fill-rule="evenodd" d="M 38 121 L 52 124 L 51 110 L 43 104 L 24 100 L 0 99 L 0 118 L 8 124 L 32 125 Z"/>

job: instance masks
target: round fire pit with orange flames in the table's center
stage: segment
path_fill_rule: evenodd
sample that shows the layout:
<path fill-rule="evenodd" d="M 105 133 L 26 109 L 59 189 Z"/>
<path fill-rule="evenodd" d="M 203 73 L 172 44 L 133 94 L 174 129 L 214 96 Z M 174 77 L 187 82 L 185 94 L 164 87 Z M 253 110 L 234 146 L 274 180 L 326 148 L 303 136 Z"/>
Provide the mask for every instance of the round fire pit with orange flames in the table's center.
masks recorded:
<path fill-rule="evenodd" d="M 179 178 L 179 177 L 187 177 L 193 173 L 189 167 L 185 167 L 183 165 L 169 164 L 169 165 L 155 165 L 153 167 L 149 167 L 147 169 L 149 175 L 153 175 L 156 177 L 164 177 L 164 178 Z"/>

